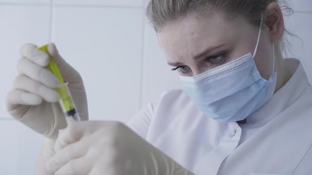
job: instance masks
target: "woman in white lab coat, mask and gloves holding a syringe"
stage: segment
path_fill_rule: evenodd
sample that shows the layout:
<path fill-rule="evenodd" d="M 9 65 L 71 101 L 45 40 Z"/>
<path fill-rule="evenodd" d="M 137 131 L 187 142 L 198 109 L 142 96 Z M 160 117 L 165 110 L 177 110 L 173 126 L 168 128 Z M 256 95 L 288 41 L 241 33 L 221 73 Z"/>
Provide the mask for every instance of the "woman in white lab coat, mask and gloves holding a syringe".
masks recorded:
<path fill-rule="evenodd" d="M 37 174 L 312 174 L 312 88 L 282 58 L 276 0 L 152 0 L 148 16 L 184 90 L 127 126 L 87 121 L 83 81 L 51 44 L 86 120 L 66 127 L 48 56 L 21 48 L 7 106 L 46 138 Z"/>

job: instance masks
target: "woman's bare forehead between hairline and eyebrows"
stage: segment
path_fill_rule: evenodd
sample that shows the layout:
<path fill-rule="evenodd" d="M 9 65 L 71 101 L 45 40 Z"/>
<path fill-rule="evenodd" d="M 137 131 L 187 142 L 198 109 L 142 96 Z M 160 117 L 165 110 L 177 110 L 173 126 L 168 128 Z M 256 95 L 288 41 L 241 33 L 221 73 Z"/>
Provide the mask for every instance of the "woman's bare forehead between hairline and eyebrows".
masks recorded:
<path fill-rule="evenodd" d="M 241 17 L 227 20 L 222 13 L 207 16 L 192 14 L 166 25 L 158 33 L 167 57 L 193 56 L 199 50 L 231 42 L 246 34 L 247 21 Z"/>

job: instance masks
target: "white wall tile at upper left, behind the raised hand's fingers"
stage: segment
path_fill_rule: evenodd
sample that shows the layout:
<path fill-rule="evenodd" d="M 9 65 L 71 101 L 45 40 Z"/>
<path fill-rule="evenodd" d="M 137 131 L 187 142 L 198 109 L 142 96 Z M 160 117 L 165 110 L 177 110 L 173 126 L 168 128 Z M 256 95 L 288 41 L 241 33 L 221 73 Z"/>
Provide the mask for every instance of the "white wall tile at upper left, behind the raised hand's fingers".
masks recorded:
<path fill-rule="evenodd" d="M 16 62 L 20 58 L 19 47 L 27 42 L 46 43 L 49 41 L 48 6 L 0 5 L 0 118 L 9 118 L 5 109 L 5 97 L 11 89 L 16 75 Z"/>

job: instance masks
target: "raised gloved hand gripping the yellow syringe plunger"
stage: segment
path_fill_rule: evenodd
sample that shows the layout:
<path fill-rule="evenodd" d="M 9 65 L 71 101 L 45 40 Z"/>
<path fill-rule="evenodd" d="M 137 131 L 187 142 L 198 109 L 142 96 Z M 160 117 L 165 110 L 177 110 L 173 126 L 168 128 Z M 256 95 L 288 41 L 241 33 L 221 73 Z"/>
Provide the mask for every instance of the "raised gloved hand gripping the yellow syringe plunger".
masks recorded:
<path fill-rule="evenodd" d="M 64 80 L 69 83 L 81 119 L 88 120 L 87 98 L 81 76 L 59 55 L 53 43 L 48 51 L 59 66 Z M 13 83 L 13 90 L 7 95 L 7 110 L 13 118 L 47 138 L 44 155 L 48 158 L 53 154 L 52 148 L 59 129 L 67 126 L 58 103 L 60 96 L 54 90 L 60 86 L 60 82 L 46 69 L 48 54 L 31 44 L 22 46 L 20 52 L 22 58 L 17 63 L 19 75 Z"/>

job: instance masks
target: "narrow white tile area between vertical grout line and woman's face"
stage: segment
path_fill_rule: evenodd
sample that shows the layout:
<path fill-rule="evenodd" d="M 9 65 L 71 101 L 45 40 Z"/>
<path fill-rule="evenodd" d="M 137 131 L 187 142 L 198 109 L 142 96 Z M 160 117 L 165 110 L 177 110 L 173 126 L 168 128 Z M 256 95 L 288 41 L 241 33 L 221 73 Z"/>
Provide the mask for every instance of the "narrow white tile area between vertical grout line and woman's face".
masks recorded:
<path fill-rule="evenodd" d="M 167 65 L 157 35 L 148 21 L 145 21 L 143 60 L 142 105 L 156 101 L 161 93 L 169 89 L 181 88 L 177 72 Z M 172 69 L 172 68 L 171 68 Z"/>

